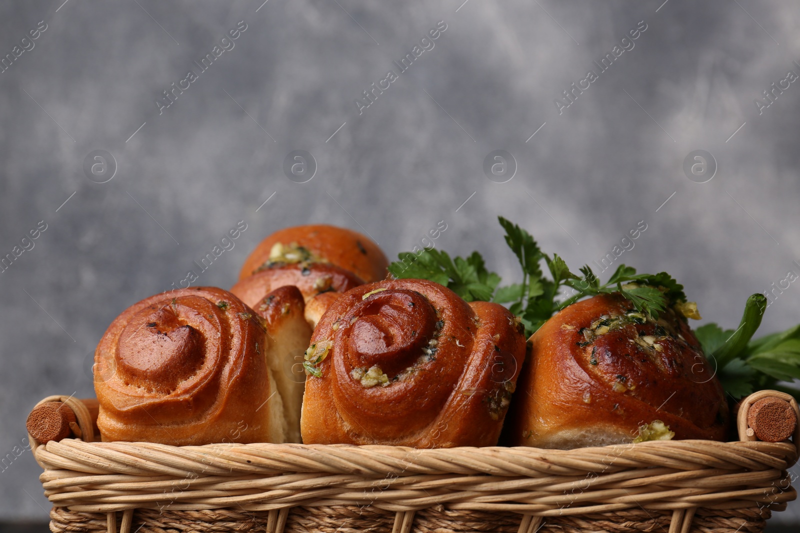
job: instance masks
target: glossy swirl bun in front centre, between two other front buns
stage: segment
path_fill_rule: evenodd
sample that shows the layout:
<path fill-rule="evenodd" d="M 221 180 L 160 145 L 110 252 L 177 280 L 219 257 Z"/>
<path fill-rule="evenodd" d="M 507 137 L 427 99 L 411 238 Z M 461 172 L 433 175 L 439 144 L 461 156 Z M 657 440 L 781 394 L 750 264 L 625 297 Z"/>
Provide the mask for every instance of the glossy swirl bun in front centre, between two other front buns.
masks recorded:
<path fill-rule="evenodd" d="M 427 280 L 354 288 L 306 351 L 303 443 L 494 446 L 525 352 L 501 305 Z"/>

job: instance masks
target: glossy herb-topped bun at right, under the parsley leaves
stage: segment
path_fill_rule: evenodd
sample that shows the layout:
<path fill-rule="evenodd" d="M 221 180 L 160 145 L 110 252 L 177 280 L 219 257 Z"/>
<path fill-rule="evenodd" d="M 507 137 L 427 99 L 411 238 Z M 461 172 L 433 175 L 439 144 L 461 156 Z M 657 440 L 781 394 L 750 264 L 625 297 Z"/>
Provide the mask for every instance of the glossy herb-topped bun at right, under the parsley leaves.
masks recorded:
<path fill-rule="evenodd" d="M 726 436 L 722 386 L 686 319 L 671 309 L 653 320 L 618 293 L 594 296 L 558 312 L 531 341 L 509 415 L 513 445 Z"/>

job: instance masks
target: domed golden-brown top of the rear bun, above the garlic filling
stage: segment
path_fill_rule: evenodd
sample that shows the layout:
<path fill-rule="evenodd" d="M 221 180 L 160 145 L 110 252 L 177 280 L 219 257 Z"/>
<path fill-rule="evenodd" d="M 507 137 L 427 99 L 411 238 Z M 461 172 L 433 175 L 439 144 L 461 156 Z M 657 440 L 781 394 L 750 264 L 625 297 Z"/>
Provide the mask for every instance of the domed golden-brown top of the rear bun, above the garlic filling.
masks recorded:
<path fill-rule="evenodd" d="M 389 266 L 378 245 L 361 233 L 331 225 L 303 225 L 281 229 L 261 241 L 242 265 L 239 280 L 274 262 L 270 252 L 277 243 L 287 247 L 295 243 L 314 257 L 311 262 L 336 265 L 366 282 L 385 278 Z"/>

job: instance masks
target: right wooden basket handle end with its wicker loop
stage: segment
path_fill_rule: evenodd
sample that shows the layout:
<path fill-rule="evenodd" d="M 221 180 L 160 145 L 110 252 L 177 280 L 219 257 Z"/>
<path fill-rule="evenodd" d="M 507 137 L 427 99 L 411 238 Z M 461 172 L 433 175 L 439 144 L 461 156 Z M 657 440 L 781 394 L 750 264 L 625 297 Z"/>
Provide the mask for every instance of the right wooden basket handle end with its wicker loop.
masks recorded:
<path fill-rule="evenodd" d="M 742 400 L 738 412 L 739 440 L 782 442 L 792 437 L 800 453 L 800 408 L 786 392 L 758 391 Z"/>

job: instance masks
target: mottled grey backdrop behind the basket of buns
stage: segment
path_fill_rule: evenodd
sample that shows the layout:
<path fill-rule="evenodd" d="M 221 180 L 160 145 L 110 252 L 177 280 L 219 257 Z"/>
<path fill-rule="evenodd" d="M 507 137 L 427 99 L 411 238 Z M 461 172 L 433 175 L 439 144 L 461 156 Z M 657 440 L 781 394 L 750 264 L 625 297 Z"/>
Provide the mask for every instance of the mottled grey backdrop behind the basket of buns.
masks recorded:
<path fill-rule="evenodd" d="M 0 273 L 0 455 L 37 400 L 92 396 L 90 354 L 114 316 L 177 285 L 239 220 L 199 284 L 230 287 L 258 241 L 309 222 L 394 257 L 444 220 L 438 247 L 481 250 L 511 278 L 498 214 L 570 265 L 645 221 L 618 262 L 672 273 L 726 327 L 750 293 L 800 272 L 800 84 L 754 105 L 800 74 L 794 0 L 462 1 L 2 2 L 0 56 L 47 29 L 0 74 L 0 256 L 47 229 Z M 559 114 L 554 98 L 642 20 L 634 49 Z M 234 49 L 159 115 L 162 91 L 239 21 Z M 359 115 L 388 70 L 398 80 Z M 95 149 L 117 163 L 104 184 L 83 170 Z M 311 181 L 284 174 L 295 149 L 317 161 Z M 511 181 L 484 174 L 494 149 L 513 154 Z M 694 149 L 718 162 L 707 183 L 682 171 Z M 793 285 L 762 328 L 798 321 Z M 38 472 L 26 452 L 0 473 L 0 518 L 46 519 Z"/>

